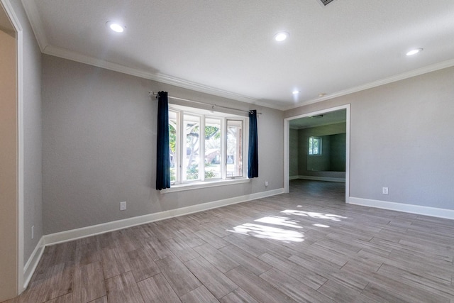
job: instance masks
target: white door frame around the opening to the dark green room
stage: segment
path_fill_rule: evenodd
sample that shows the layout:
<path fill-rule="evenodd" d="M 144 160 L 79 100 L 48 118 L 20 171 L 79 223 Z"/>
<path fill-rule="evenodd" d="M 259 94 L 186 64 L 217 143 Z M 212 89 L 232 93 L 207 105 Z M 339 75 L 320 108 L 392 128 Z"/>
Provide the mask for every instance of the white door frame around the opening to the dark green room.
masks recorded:
<path fill-rule="evenodd" d="M 284 119 L 284 192 L 290 192 L 290 121 L 345 109 L 345 203 L 350 198 L 350 104 L 312 111 Z"/>

